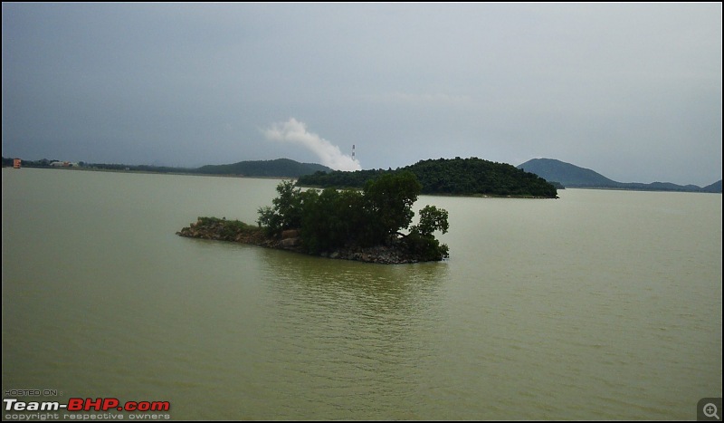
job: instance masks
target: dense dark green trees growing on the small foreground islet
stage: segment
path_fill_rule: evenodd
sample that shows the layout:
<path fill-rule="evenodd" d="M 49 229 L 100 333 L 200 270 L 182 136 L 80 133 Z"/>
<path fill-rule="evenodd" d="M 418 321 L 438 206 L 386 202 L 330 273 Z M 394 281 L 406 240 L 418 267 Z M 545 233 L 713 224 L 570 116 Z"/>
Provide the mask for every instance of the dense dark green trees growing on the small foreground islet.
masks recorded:
<path fill-rule="evenodd" d="M 447 211 L 426 206 L 420 211 L 419 224 L 410 226 L 421 188 L 412 172 L 386 173 L 368 180 L 361 191 L 331 187 L 301 191 L 291 181 L 283 181 L 273 207 L 259 209 L 257 223 L 270 236 L 299 229 L 303 248 L 312 254 L 349 245 L 397 245 L 421 261 L 442 260 L 448 256 L 448 247 L 433 232 L 447 232 Z M 408 228 L 408 234 L 400 232 Z"/>

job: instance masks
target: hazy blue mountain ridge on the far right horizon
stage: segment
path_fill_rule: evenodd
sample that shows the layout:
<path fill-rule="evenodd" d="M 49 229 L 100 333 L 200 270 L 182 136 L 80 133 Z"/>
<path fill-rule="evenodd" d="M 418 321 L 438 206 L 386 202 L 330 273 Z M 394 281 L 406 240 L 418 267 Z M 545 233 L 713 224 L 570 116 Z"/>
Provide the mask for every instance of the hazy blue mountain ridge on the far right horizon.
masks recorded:
<path fill-rule="evenodd" d="M 605 176 L 589 168 L 579 168 L 576 165 L 557 159 L 530 159 L 518 165 L 517 168 L 523 169 L 526 172 L 535 173 L 540 178 L 548 180 L 548 182 L 558 182 L 564 187 L 614 188 L 643 191 L 721 192 L 720 179 L 707 187 L 677 185 L 671 182 L 653 182 L 651 184 L 617 182 L 613 179 L 605 178 Z"/>

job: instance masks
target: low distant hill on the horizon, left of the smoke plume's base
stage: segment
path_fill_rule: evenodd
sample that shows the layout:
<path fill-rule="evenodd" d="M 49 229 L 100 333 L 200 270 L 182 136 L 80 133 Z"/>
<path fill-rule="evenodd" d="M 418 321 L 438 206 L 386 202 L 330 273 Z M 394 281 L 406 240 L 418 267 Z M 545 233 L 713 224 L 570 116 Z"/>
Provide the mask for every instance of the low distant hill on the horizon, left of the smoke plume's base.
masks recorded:
<path fill-rule="evenodd" d="M 238 175 L 244 177 L 299 178 L 314 172 L 331 172 L 332 169 L 316 163 L 300 163 L 291 159 L 249 160 L 231 165 L 206 165 L 196 168 L 195 173 L 208 175 Z"/>

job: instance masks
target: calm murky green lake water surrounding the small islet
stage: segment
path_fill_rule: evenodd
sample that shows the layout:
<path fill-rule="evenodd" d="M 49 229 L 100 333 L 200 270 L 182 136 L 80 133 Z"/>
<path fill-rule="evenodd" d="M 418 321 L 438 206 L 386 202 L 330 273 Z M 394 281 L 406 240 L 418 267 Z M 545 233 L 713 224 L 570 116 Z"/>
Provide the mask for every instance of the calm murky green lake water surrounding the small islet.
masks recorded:
<path fill-rule="evenodd" d="M 175 235 L 254 222 L 279 180 L 2 178 L 4 390 L 186 419 L 695 419 L 721 396 L 720 195 L 420 197 L 451 258 L 384 265 Z"/>

